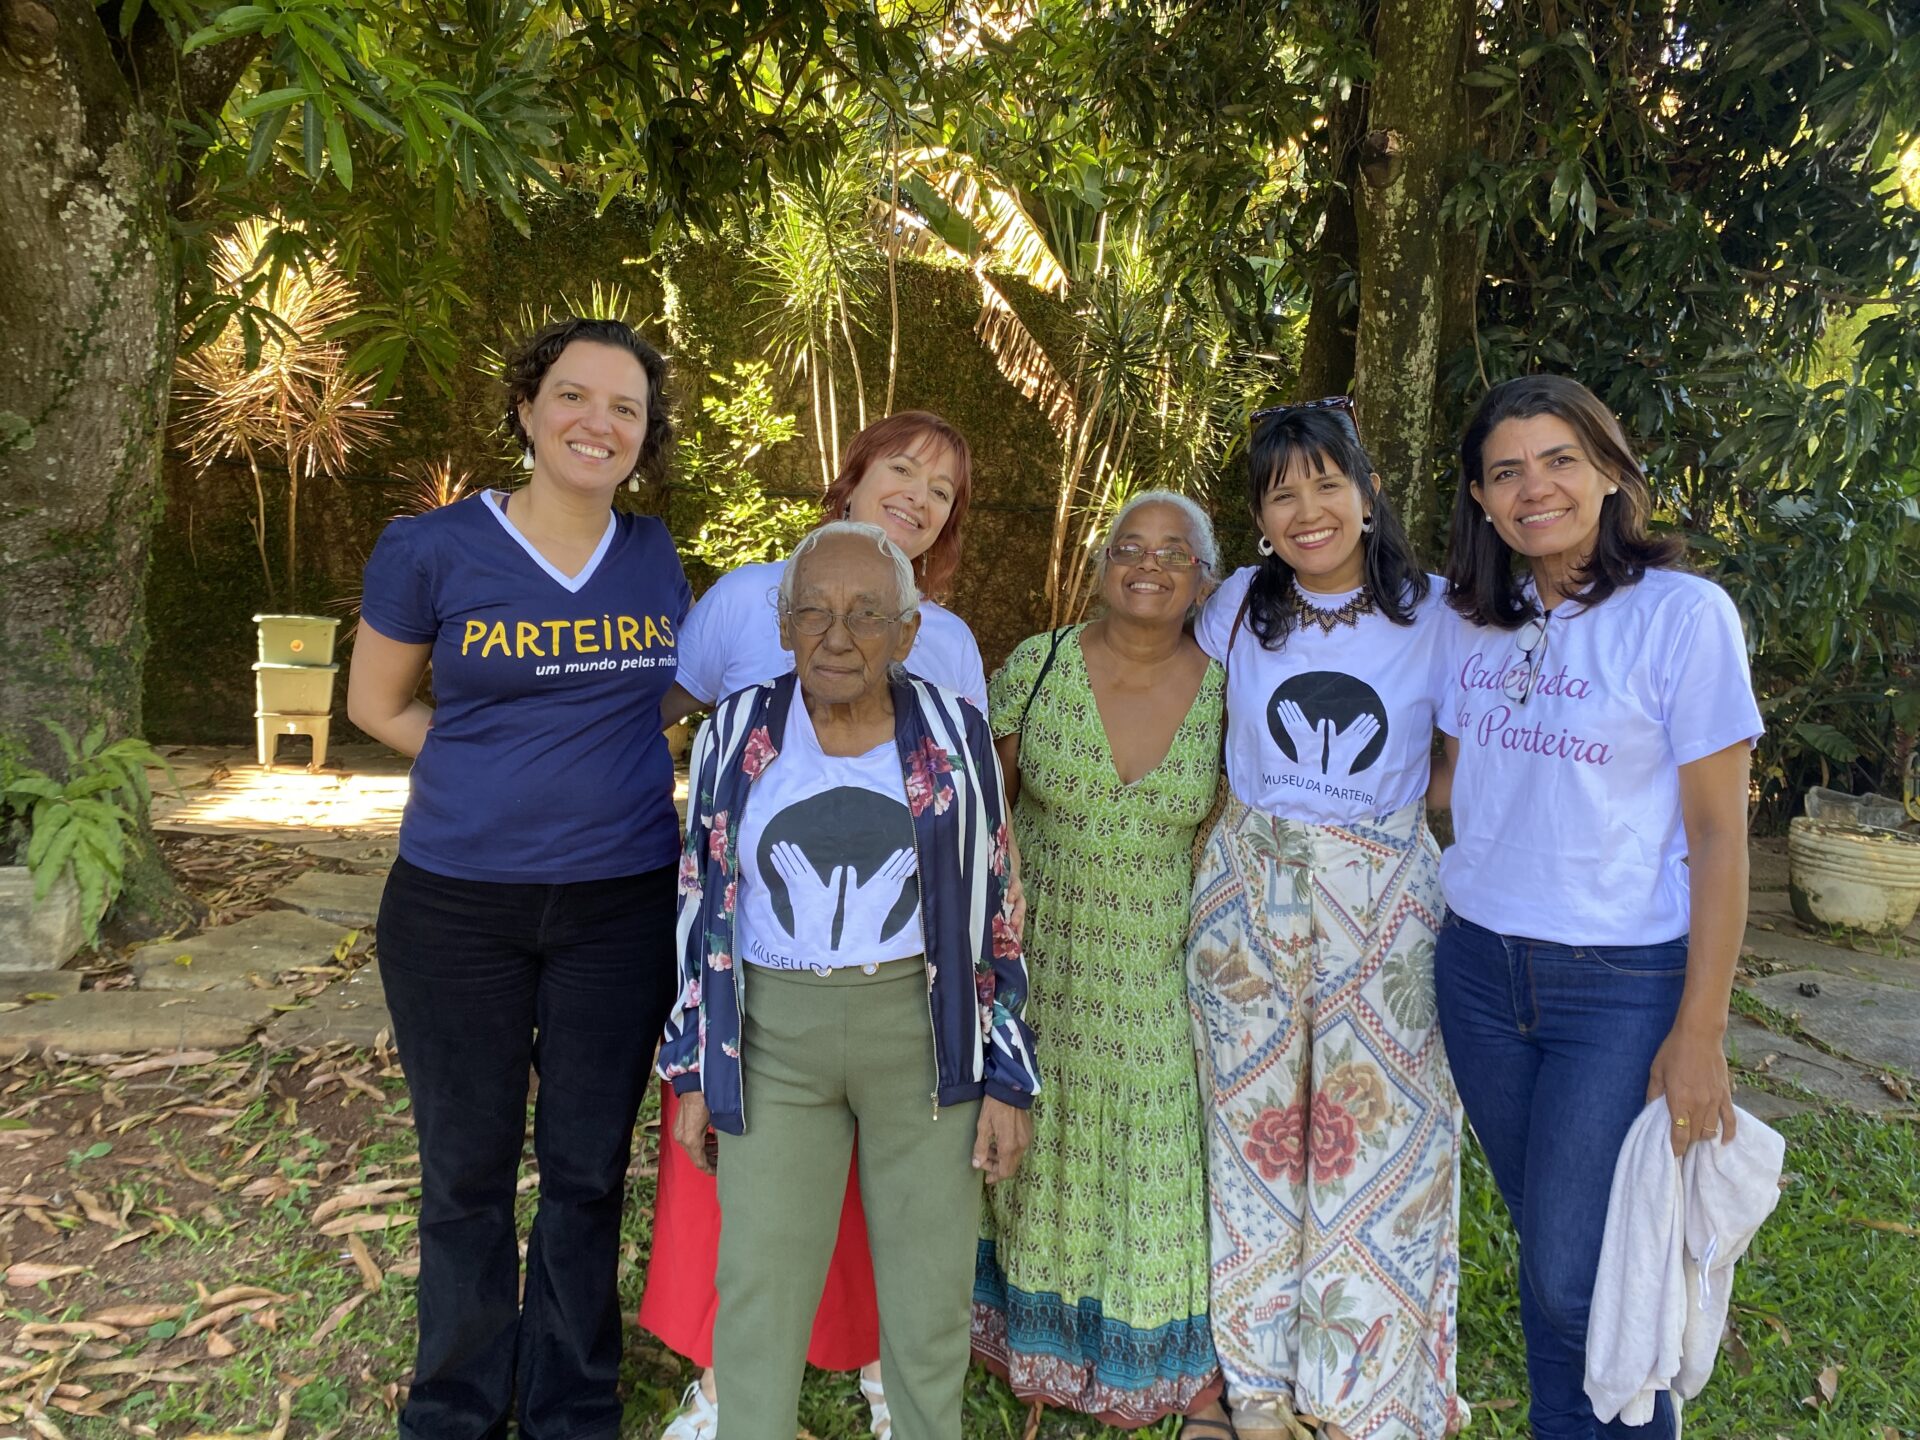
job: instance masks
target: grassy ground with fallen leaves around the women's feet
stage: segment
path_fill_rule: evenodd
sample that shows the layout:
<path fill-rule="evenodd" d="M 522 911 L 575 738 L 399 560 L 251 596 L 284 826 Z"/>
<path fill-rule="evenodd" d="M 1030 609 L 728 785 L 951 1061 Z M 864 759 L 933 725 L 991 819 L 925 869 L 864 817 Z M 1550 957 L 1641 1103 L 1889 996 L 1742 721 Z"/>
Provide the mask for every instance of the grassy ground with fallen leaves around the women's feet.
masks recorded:
<path fill-rule="evenodd" d="M 411 1175 L 413 1131 L 397 1073 L 374 1071 L 382 1098 L 340 1087 L 309 1094 L 303 1087 L 321 1066 L 284 1062 L 265 1069 L 259 1052 L 234 1052 L 196 1073 L 152 1077 L 152 1085 L 102 1087 L 79 1069 L 33 1071 L 8 1096 L 10 1114 L 58 1127 L 42 1142 L 33 1188 L 84 1188 L 108 1210 L 125 1208 L 152 1235 L 104 1252 L 109 1231 L 67 1212 L 56 1200 L 52 1229 L 15 1219 L 4 1236 L 12 1258 L 84 1263 L 84 1275 L 0 1296 L 0 1352 L 25 1361 L 44 1357 L 19 1344 L 15 1323 L 73 1321 L 108 1306 L 184 1304 L 161 1325 L 104 1344 L 100 1357 L 165 1363 L 190 1379 L 144 1382 L 138 1375 L 81 1380 L 96 1394 L 125 1394 L 100 1417 L 50 1411 L 67 1440 L 119 1440 L 159 1434 L 267 1434 L 282 1402 L 290 1407 L 288 1440 L 372 1440 L 394 1430 L 392 1404 L 413 1352 L 413 1281 L 386 1275 L 378 1292 L 363 1286 L 344 1236 L 321 1236 L 315 1206 L 340 1187 L 374 1177 Z M 21 1073 L 21 1071 L 15 1071 Z M 265 1083 L 271 1079 L 271 1085 Z M 198 1104 L 238 1110 L 221 1121 L 165 1112 L 159 1119 L 115 1129 L 117 1117 L 146 1106 Z M 117 1106 L 113 1102 L 119 1102 Z M 102 1108 L 104 1106 L 104 1108 Z M 651 1119 L 649 1102 L 649 1119 Z M 1851 1114 L 1784 1121 L 1789 1185 L 1780 1208 L 1741 1263 L 1734 1288 L 1734 1342 L 1722 1354 L 1707 1392 L 1688 1407 L 1690 1440 L 1920 1440 L 1920 1236 L 1874 1229 L 1864 1221 L 1920 1229 L 1920 1125 Z M 109 1144 L 109 1150 L 102 1150 Z M 0 1188 L 19 1188 L 27 1162 L 0 1150 Z M 10 1171 L 12 1167 L 12 1171 Z M 209 1190 L 186 1171 L 215 1181 Z M 242 1190 L 280 1181 L 286 1194 Z M 1526 1434 L 1524 1356 L 1513 1283 L 1515 1246 L 1505 1210 L 1484 1162 L 1469 1146 L 1461 1256 L 1461 1394 L 1475 1405 L 1469 1440 Z M 639 1302 L 649 1246 L 651 1171 L 634 1185 L 622 1233 L 622 1309 Z M 522 1223 L 534 1196 L 522 1196 Z M 401 1208 L 405 1210 L 405 1208 Z M 413 1227 L 363 1236 L 367 1252 L 390 1271 L 413 1254 Z M 205 1311 L 207 1292 L 232 1284 L 273 1290 L 252 1317 L 219 1327 L 234 1354 L 205 1352 L 205 1336 L 180 1331 Z M 319 1342 L 315 1332 L 359 1296 Z M 77 1371 L 86 1357 L 71 1361 Z M 1820 1373 L 1834 1367 L 1832 1402 Z M 628 1325 L 622 1365 L 624 1434 L 651 1440 L 693 1379 L 693 1367 Z M 0 1373 L 0 1382 L 6 1373 Z M 0 1392 L 0 1404 L 21 1390 Z M 1004 1384 L 973 1373 L 966 1398 L 970 1440 L 1018 1440 L 1025 1407 Z M 801 1425 L 816 1440 L 860 1440 L 866 1405 L 852 1375 L 810 1371 L 801 1398 Z M 1177 1425 L 1144 1432 L 1165 1440 Z M 0 1421 L 0 1434 L 25 1434 Z M 1083 1417 L 1048 1413 L 1041 1434 L 1110 1436 Z"/>

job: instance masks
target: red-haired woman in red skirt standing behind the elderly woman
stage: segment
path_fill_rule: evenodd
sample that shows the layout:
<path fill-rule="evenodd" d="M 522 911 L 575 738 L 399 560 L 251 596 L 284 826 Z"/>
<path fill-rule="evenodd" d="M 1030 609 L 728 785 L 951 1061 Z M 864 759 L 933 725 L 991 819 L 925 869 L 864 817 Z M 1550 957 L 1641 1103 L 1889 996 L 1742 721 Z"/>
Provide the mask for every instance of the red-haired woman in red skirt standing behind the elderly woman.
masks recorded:
<path fill-rule="evenodd" d="M 929 411 L 900 411 L 866 426 L 822 497 L 822 522 L 864 520 L 887 532 L 914 563 L 922 593 L 945 593 L 960 568 L 960 532 L 972 499 L 972 453 L 952 424 Z M 660 722 L 716 705 L 747 685 L 793 668 L 781 649 L 774 597 L 787 561 L 743 564 L 720 576 L 680 628 L 678 684 L 660 705 Z M 906 668 L 954 689 L 987 710 L 987 674 L 966 622 L 943 605 L 920 603 L 920 636 Z M 672 1135 L 678 1102 L 662 1087 L 660 1135 Z M 664 1440 L 714 1440 L 718 1400 L 712 1334 L 718 1296 L 720 1200 L 712 1169 L 697 1167 L 678 1144 L 660 1144 L 653 1212 L 653 1254 L 639 1323 L 666 1346 L 703 1367 L 687 1388 Z M 806 1359 L 820 1369 L 860 1369 L 860 1390 L 874 1407 L 874 1432 L 891 1425 L 879 1382 L 879 1315 L 866 1213 L 854 1173 L 847 1177 L 839 1242 L 828 1271 Z"/>

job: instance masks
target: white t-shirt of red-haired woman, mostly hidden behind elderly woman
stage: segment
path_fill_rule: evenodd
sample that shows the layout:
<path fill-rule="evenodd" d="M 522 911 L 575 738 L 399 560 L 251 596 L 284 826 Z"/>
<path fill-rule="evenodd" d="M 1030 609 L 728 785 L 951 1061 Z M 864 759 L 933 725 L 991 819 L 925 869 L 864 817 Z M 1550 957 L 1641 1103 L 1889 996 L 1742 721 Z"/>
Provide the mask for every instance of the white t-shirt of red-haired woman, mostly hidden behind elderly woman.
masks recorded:
<path fill-rule="evenodd" d="M 780 576 L 785 561 L 743 564 L 714 580 L 680 624 L 676 680 L 701 705 L 747 685 L 764 685 L 793 670 L 793 651 L 780 645 Z M 960 691 L 987 712 L 987 672 L 979 645 L 952 611 L 920 601 L 920 634 L 906 668 L 933 685 Z"/>

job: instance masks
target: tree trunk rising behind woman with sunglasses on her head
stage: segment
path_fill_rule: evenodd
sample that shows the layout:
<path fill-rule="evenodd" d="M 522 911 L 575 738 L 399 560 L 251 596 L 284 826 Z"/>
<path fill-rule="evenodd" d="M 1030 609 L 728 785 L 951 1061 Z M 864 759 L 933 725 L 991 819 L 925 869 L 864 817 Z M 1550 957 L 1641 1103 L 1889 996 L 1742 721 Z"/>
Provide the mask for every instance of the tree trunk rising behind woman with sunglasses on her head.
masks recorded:
<path fill-rule="evenodd" d="M 1455 252 L 1473 238 L 1438 223 L 1469 125 L 1461 84 L 1473 0 L 1382 0 L 1357 186 L 1359 328 L 1354 401 L 1407 532 L 1436 532 L 1440 359 Z"/>

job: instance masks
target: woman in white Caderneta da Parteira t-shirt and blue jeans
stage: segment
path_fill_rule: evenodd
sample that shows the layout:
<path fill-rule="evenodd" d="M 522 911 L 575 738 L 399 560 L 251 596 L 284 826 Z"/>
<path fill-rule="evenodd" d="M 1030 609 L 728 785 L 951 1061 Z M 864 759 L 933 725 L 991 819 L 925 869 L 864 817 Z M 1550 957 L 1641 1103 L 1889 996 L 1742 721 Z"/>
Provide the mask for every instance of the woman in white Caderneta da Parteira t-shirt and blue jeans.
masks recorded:
<path fill-rule="evenodd" d="M 1747 649 L 1726 593 L 1647 534 L 1647 480 L 1586 386 L 1494 386 L 1459 459 L 1440 1027 L 1521 1236 L 1534 1436 L 1670 1440 L 1665 1394 L 1649 1425 L 1594 1417 L 1586 1321 L 1640 1110 L 1667 1096 L 1674 1154 L 1734 1135 Z"/>

